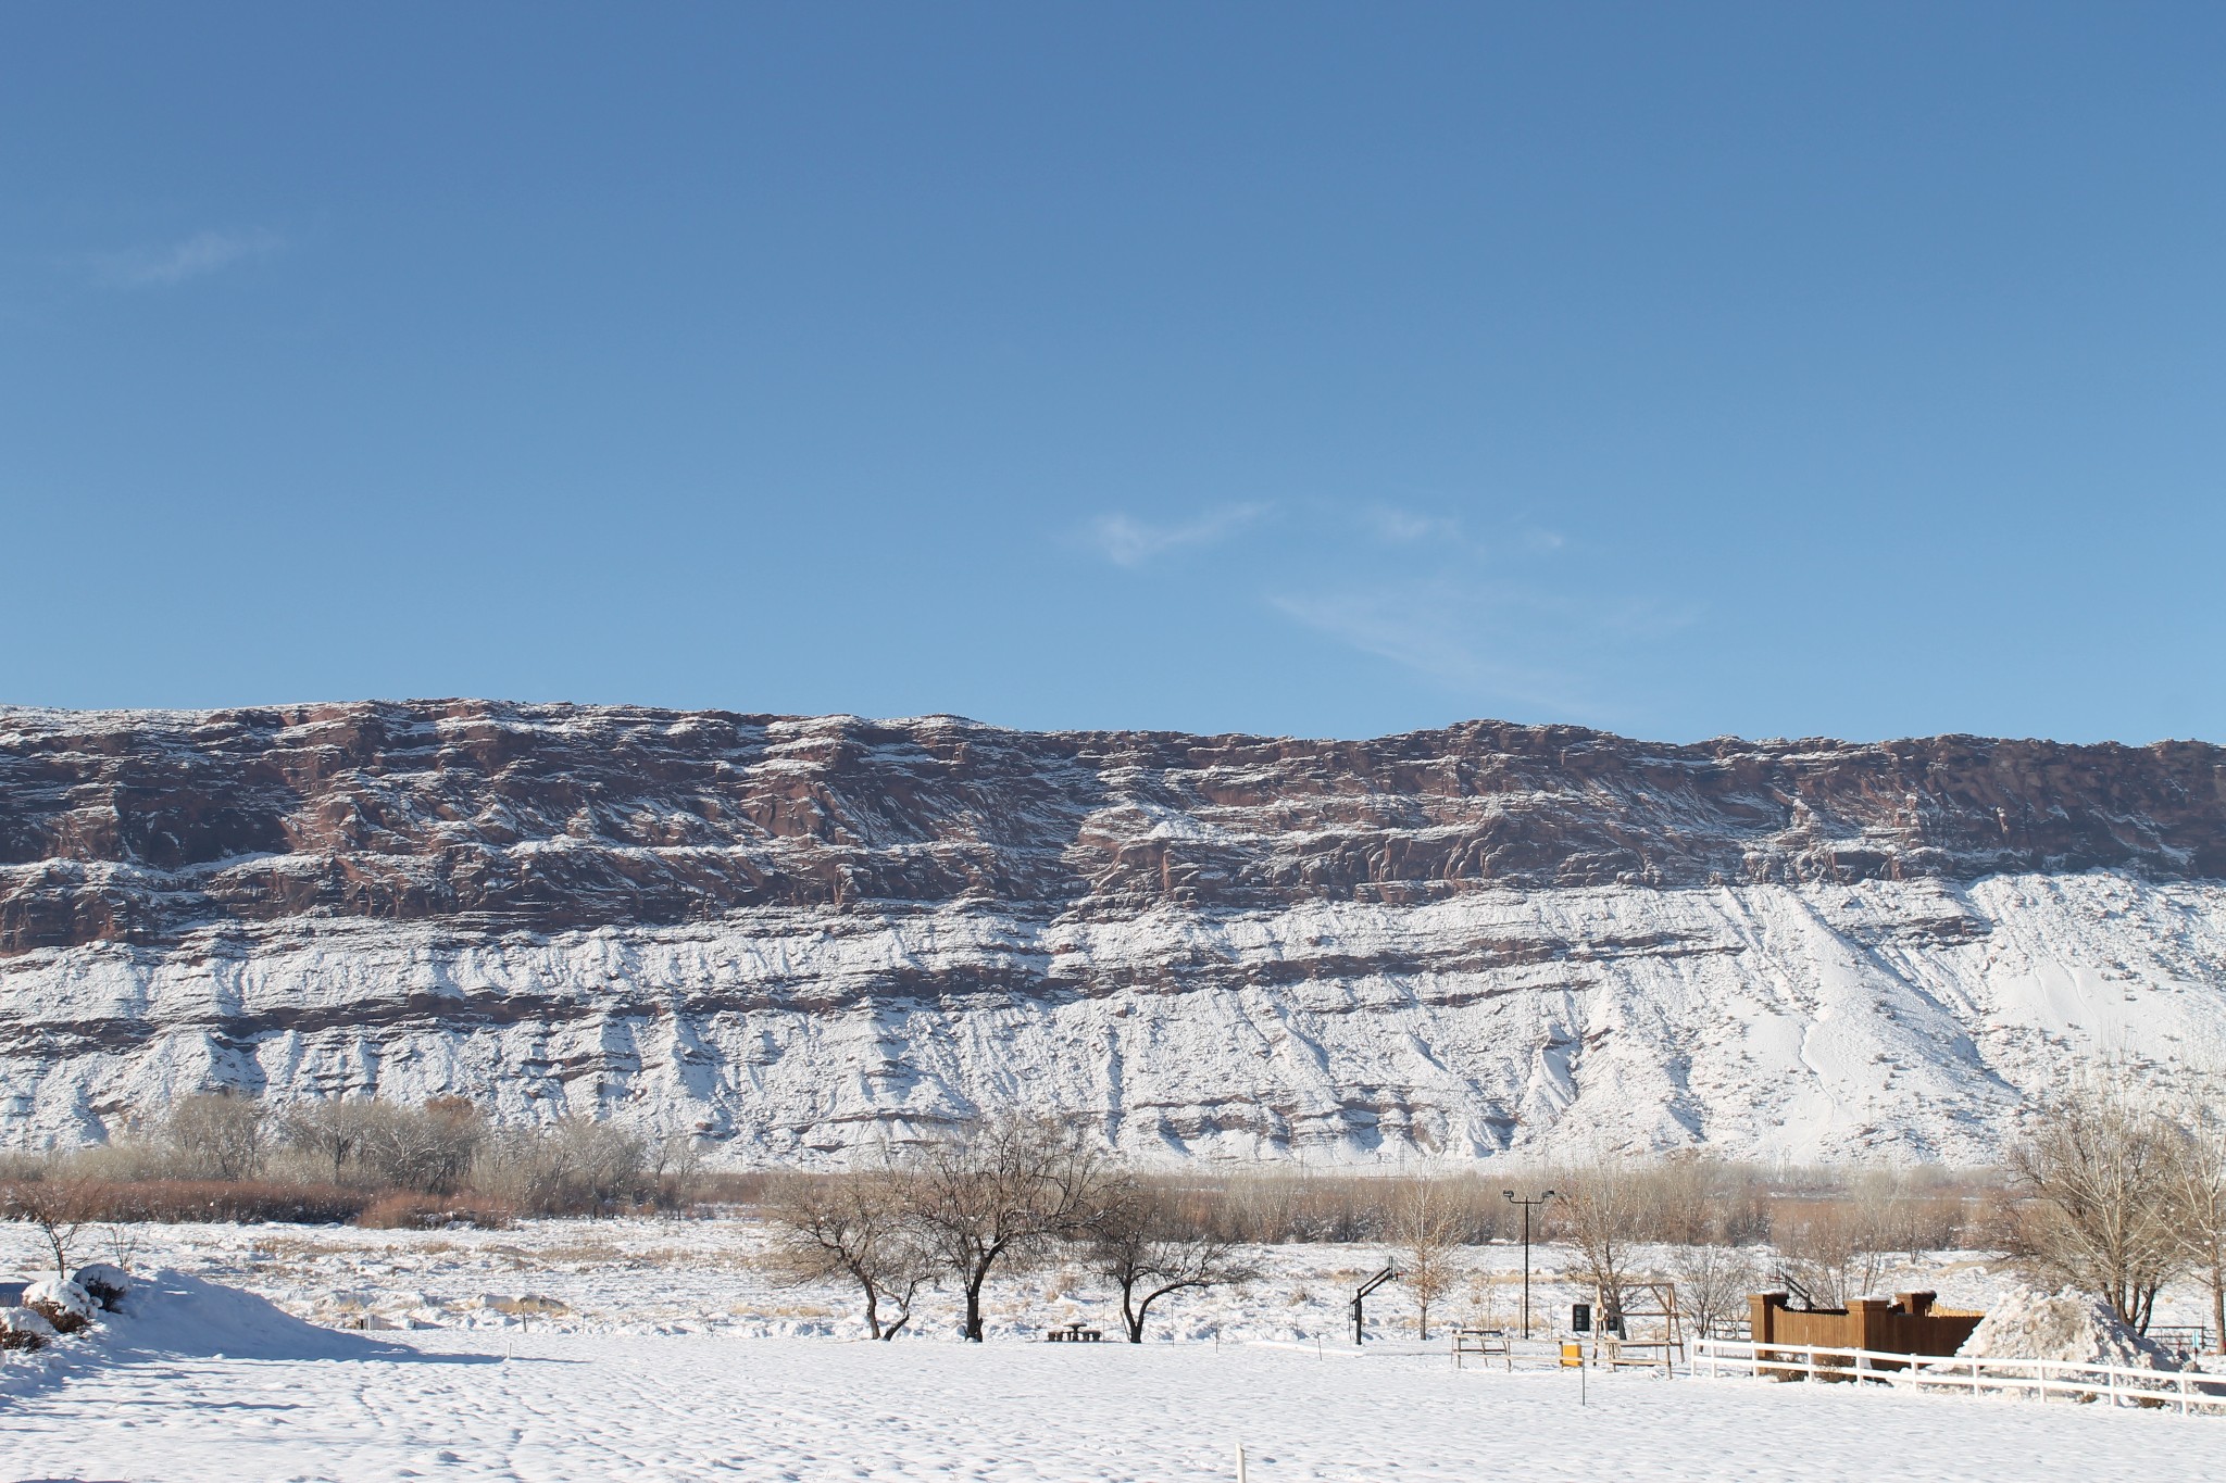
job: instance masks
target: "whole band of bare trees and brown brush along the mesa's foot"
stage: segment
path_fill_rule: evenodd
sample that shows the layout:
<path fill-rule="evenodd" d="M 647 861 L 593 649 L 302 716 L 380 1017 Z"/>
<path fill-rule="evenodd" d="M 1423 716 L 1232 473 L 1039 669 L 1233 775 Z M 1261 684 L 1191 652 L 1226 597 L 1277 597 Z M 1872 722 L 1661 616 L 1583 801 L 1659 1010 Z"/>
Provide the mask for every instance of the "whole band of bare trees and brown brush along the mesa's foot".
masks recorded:
<path fill-rule="evenodd" d="M 1140 1341 L 1169 1294 L 1244 1281 L 1247 1247 L 1291 1241 L 1389 1247 L 1427 1334 L 1462 1247 L 1514 1234 L 1507 1183 L 1494 1170 L 1144 1172 L 1080 1125 L 1024 1116 L 959 1121 L 846 1174 L 708 1176 L 697 1138 L 608 1121 L 501 1129 L 463 1098 L 274 1109 L 198 1094 L 114 1145 L 0 1161 L 0 1214 L 51 1241 L 93 1221 L 499 1223 L 681 1212 L 710 1196 L 770 1221 L 784 1274 L 855 1285 L 877 1338 L 913 1323 L 933 1285 L 959 1296 L 962 1332 L 979 1338 L 991 1274 L 1060 1254 L 1111 1283 Z M 1843 1307 L 1903 1258 L 1981 1247 L 2104 1298 L 2137 1330 L 2168 1283 L 2197 1281 L 2226 1336 L 2226 1105 L 2161 1098 L 2133 1067 L 2037 1098 L 1999 1170 L 1598 1156 L 1529 1170 L 1520 1185 L 1556 1192 L 1534 1234 L 1567 1252 L 1565 1278 L 1618 1305 L 1634 1281 L 1676 1281 L 1696 1325 L 1734 1318 L 1765 1285 Z"/>

